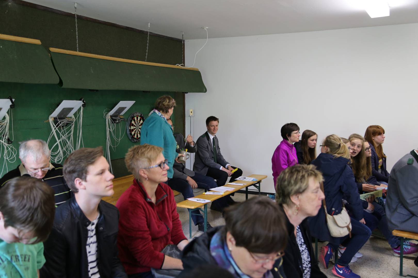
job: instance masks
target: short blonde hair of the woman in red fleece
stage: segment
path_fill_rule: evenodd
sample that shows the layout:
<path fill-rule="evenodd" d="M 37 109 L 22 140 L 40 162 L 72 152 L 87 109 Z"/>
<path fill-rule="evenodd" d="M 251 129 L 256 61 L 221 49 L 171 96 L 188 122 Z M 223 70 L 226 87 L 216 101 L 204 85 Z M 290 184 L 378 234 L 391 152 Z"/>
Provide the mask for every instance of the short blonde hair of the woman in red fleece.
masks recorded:
<path fill-rule="evenodd" d="M 144 144 L 134 146 L 130 148 L 125 155 L 126 168 L 136 179 L 139 179 L 139 170 L 152 166 L 151 163 L 153 163 L 162 152 L 163 148 L 154 145 Z"/>

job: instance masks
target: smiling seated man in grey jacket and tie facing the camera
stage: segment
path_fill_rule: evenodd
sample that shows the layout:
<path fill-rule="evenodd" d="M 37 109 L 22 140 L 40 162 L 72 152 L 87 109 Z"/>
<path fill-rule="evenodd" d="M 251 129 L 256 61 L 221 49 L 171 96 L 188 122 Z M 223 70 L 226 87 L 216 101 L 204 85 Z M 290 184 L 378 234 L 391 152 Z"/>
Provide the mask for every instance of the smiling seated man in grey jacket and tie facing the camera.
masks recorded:
<path fill-rule="evenodd" d="M 224 159 L 221 153 L 219 140 L 216 137 L 218 124 L 219 119 L 214 116 L 210 116 L 206 119 L 207 131 L 196 141 L 198 147 L 194 158 L 193 170 L 196 173 L 214 178 L 217 180 L 217 185 L 222 186 L 227 183 L 228 177 L 231 177 L 229 179 L 230 183 L 234 182 L 236 178 L 242 175 L 242 170 L 238 168 L 234 173 L 231 173 L 236 167 L 232 167 L 231 164 Z M 227 199 L 229 205 L 235 203 L 230 195 L 227 195 L 224 198 Z M 223 211 L 223 208 L 217 208 L 213 203 L 211 209 Z"/>

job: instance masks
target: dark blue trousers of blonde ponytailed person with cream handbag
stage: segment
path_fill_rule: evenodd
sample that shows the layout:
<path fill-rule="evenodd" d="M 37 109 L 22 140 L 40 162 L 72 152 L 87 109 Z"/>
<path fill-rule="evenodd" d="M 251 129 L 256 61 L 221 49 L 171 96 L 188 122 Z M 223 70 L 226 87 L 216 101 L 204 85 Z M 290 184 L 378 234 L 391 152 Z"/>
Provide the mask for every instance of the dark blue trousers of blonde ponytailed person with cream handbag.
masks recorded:
<path fill-rule="evenodd" d="M 367 223 L 367 220 L 365 220 Z M 359 221 L 351 218 L 351 238 L 349 235 L 346 235 L 342 241 L 343 245 L 346 247 L 344 253 L 342 253 L 341 258 L 338 259 L 338 264 L 342 266 L 347 266 L 354 254 L 357 253 L 367 242 L 372 235 L 372 231 L 364 224 Z M 337 250 L 338 245 L 333 245 L 332 248 Z"/>

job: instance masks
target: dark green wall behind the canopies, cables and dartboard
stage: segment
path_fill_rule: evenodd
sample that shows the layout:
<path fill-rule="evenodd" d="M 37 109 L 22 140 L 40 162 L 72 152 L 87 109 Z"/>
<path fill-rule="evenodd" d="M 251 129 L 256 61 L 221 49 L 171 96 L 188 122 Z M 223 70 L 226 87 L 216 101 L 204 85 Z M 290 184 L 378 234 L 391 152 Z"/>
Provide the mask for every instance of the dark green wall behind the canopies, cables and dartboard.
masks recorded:
<path fill-rule="evenodd" d="M 0 0 L 0 33 L 41 40 L 49 47 L 76 50 L 74 18 L 50 13 L 35 8 Z M 145 60 L 147 36 L 121 28 L 111 27 L 86 20 L 78 20 L 79 51 L 98 55 Z M 150 36 L 148 62 L 177 64 L 181 62 L 181 42 Z M 0 64 L 0 70 L 7 70 Z M 15 98 L 13 109 L 13 145 L 30 138 L 47 140 L 51 133 L 48 122 L 50 115 L 62 100 L 84 98 L 87 107 L 83 116 L 83 139 L 85 147 L 102 145 L 105 148 L 106 132 L 103 110 L 112 109 L 120 100 L 135 100 L 125 117 L 132 112 L 148 116 L 155 100 L 161 95 L 171 95 L 177 102 L 173 122 L 176 132 L 184 133 L 183 93 L 164 93 L 126 90 L 99 90 L 60 88 L 55 84 L 23 84 L 0 82 L 0 98 Z M 122 123 L 125 132 L 125 122 Z M 11 133 L 11 130 L 10 130 Z M 74 138 L 75 140 L 75 138 Z M 134 144 L 125 134 L 115 152 L 111 152 L 112 167 L 116 177 L 127 175 L 123 158 L 128 148 Z M 3 156 L 3 154 L 0 154 Z M 9 163 L 9 170 L 20 161 Z M 3 157 L 0 168 L 3 167 Z M 3 173 L 4 175 L 5 173 Z"/>

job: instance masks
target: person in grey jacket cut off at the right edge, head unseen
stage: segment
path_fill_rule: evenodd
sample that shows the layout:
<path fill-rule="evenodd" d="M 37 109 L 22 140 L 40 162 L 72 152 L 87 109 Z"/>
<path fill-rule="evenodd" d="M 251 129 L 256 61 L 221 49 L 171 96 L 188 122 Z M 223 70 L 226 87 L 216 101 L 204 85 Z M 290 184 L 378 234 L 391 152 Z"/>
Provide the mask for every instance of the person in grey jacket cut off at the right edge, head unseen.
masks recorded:
<path fill-rule="evenodd" d="M 390 171 L 385 211 L 389 230 L 418 233 L 418 150 L 404 155 Z"/>

